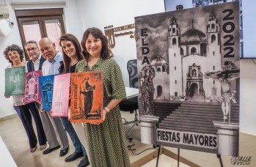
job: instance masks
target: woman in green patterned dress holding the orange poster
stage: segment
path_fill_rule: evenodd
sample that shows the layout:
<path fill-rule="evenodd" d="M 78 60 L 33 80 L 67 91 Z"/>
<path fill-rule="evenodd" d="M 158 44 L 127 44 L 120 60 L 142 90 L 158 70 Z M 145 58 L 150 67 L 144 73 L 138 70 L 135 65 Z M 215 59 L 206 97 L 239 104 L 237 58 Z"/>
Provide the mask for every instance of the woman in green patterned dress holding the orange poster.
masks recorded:
<path fill-rule="evenodd" d="M 104 122 L 84 124 L 90 162 L 95 167 L 131 166 L 118 105 L 126 97 L 120 67 L 111 58 L 108 40 L 100 29 L 84 31 L 81 47 L 85 59 L 78 62 L 76 72 L 103 70 Z"/>

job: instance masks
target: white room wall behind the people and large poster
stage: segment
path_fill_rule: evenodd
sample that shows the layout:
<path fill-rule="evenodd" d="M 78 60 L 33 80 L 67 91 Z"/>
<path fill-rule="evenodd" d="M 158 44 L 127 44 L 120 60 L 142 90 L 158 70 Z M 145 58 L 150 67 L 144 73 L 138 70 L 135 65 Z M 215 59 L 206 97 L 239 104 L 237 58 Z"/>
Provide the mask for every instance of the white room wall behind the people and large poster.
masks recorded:
<path fill-rule="evenodd" d="M 7 3 L 10 4 L 10 1 L 11 0 L 7 0 Z M 67 32 L 76 35 L 78 40 L 81 40 L 84 30 L 88 27 L 96 26 L 103 31 L 104 26 L 125 26 L 134 23 L 134 17 L 136 16 L 158 12 L 164 12 L 164 0 L 67 0 L 65 24 Z M 15 26 L 12 30 L 12 34 L 7 37 L 0 37 L 1 53 L 7 45 L 11 45 L 12 43 L 21 45 L 13 11 L 10 13 L 10 18 L 11 21 L 15 22 Z M 114 59 L 120 65 L 125 85 L 128 86 L 126 63 L 129 59 L 136 59 L 136 42 L 134 39 L 130 39 L 127 36 L 116 37 L 115 40 L 116 45 L 112 50 L 115 54 Z M 4 56 L 0 56 L 0 75 L 2 77 L 4 77 L 4 68 L 7 64 Z M 252 135 L 256 135 L 256 112 L 254 105 L 256 99 L 256 75 L 254 70 L 256 70 L 256 64 L 254 64 L 252 60 L 241 60 L 240 130 L 241 132 Z M 3 79 L 0 82 L 0 118 L 14 112 L 10 101 L 4 98 Z"/>

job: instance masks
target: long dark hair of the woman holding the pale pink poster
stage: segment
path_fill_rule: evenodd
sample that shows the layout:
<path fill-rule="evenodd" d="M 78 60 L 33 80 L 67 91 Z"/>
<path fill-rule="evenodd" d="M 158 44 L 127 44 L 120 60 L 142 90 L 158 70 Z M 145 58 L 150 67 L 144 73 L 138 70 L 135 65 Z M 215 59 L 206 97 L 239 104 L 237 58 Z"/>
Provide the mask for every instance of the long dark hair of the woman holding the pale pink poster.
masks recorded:
<path fill-rule="evenodd" d="M 61 42 L 63 40 L 68 40 L 70 42 L 73 42 L 73 45 L 75 45 L 76 48 L 76 56 L 78 57 L 78 62 L 83 59 L 83 56 L 81 56 L 81 45 L 77 38 L 73 34 L 63 34 L 62 37 L 59 38 L 59 45 L 61 45 Z M 62 73 L 70 73 L 70 57 L 67 56 L 65 51 L 63 51 L 62 48 L 62 53 L 63 53 L 63 65 L 64 65 L 64 70 Z"/>

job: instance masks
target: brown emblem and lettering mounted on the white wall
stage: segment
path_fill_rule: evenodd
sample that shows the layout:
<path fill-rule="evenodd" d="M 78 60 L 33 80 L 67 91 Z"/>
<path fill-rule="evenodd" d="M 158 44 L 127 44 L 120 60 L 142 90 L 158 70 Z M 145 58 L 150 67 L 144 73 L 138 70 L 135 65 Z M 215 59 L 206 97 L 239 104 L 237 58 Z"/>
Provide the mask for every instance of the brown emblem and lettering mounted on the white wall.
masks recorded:
<path fill-rule="evenodd" d="M 115 27 L 115 28 L 113 28 L 113 25 L 104 27 L 105 35 L 109 41 L 109 47 L 114 48 L 114 45 L 115 45 L 114 37 L 130 35 L 130 38 L 134 38 L 134 31 L 127 31 L 128 29 L 134 29 L 134 28 L 135 28 L 134 23 L 126 26 Z M 117 31 L 118 33 L 116 33 Z M 122 32 L 119 32 L 119 31 L 122 31 Z"/>

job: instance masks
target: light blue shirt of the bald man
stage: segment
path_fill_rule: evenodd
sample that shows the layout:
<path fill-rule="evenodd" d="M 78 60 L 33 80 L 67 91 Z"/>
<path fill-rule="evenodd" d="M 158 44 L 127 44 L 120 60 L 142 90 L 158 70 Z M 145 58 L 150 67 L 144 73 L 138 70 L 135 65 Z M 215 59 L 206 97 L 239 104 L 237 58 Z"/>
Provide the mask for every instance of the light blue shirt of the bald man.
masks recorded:
<path fill-rule="evenodd" d="M 48 60 L 43 62 L 43 66 L 42 66 L 43 76 L 59 74 L 59 67 L 60 67 L 59 62 L 62 62 L 62 61 L 63 61 L 62 53 L 58 52 L 51 62 L 49 62 Z"/>

